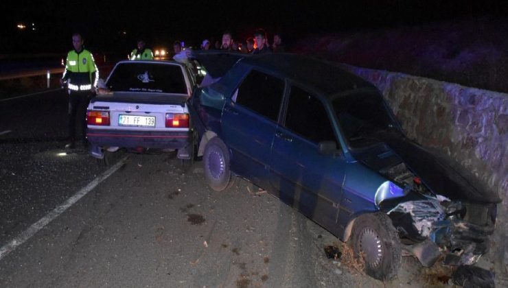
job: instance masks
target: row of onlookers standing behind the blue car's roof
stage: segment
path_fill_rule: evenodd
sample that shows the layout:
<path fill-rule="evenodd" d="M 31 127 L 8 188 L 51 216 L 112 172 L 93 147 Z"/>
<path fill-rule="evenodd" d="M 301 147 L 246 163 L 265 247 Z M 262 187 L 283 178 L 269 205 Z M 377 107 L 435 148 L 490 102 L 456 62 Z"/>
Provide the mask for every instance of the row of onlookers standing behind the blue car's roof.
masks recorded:
<path fill-rule="evenodd" d="M 201 43 L 202 50 L 211 49 L 211 43 L 208 39 Z M 284 52 L 286 49 L 282 42 L 282 36 L 279 32 L 273 34 L 273 43 L 270 47 L 268 37 L 264 29 L 256 29 L 253 37 L 246 38 L 244 42 L 238 42 L 233 39 L 233 34 L 227 31 L 222 33 L 222 44 L 216 41 L 215 49 L 240 51 L 243 53 L 262 54 L 270 52 Z"/>

